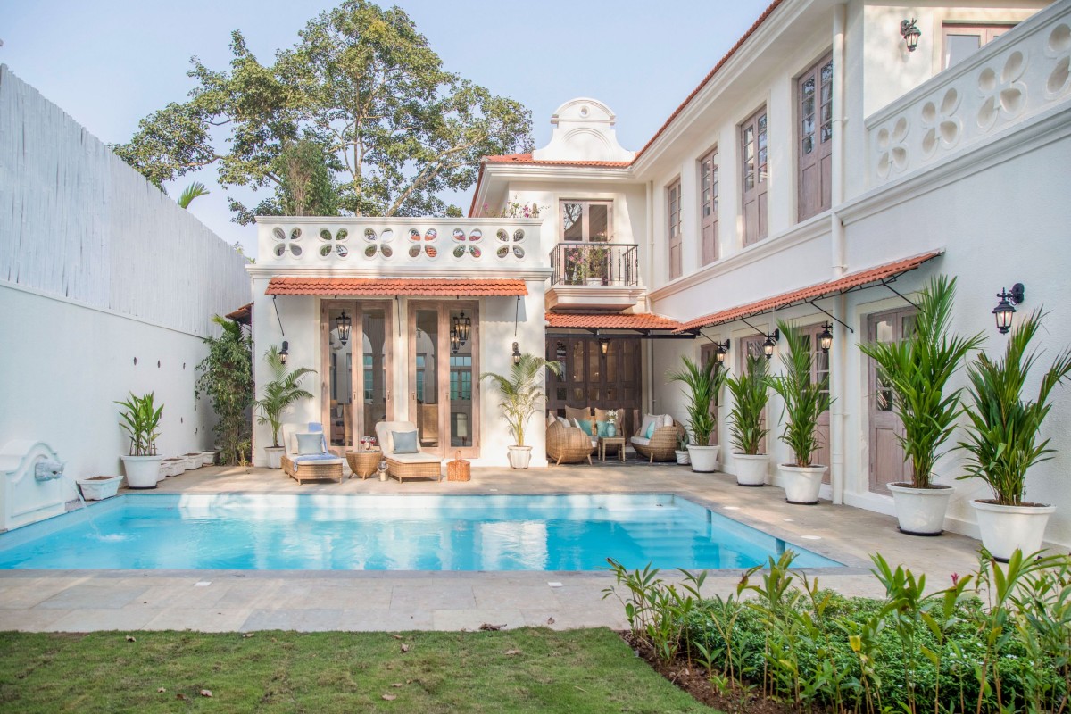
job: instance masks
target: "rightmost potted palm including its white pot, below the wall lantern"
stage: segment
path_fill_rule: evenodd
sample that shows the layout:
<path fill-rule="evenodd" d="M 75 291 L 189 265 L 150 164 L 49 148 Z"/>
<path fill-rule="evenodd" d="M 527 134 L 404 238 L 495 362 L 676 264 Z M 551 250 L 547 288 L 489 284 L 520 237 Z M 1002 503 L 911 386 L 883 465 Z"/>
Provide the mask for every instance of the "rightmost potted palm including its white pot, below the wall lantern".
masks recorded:
<path fill-rule="evenodd" d="M 1053 389 L 1071 375 L 1071 349 L 1067 349 L 1045 370 L 1037 398 L 1024 399 L 1023 389 L 1038 358 L 1030 341 L 1041 317 L 1035 312 L 1014 329 L 1001 360 L 994 362 L 982 352 L 967 369 L 970 424 L 960 446 L 969 456 L 967 473 L 960 477 L 981 478 L 993 490 L 992 499 L 971 505 L 982 545 L 997 560 L 1007 561 L 1016 549 L 1024 556 L 1040 550 L 1049 515 L 1056 510 L 1024 500 L 1027 471 L 1052 458 L 1054 451 L 1049 439 L 1039 441 Z"/>

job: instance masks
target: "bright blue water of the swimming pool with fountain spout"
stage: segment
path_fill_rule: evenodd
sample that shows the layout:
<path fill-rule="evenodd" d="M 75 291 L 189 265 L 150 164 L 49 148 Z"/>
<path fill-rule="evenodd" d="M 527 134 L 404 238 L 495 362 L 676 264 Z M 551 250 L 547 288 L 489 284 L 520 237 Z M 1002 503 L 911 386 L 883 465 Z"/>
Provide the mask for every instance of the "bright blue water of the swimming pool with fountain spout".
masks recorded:
<path fill-rule="evenodd" d="M 0 534 L 0 568 L 743 568 L 787 548 L 841 565 L 669 495 L 131 493 Z"/>

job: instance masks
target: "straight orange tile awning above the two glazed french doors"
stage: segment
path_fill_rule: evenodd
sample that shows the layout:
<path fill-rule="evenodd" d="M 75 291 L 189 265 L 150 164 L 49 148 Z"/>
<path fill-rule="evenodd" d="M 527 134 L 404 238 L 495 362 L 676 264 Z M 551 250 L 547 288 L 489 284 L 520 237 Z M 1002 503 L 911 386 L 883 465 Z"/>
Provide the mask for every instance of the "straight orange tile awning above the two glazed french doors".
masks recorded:
<path fill-rule="evenodd" d="M 273 277 L 266 295 L 483 298 L 527 295 L 519 278 Z"/>

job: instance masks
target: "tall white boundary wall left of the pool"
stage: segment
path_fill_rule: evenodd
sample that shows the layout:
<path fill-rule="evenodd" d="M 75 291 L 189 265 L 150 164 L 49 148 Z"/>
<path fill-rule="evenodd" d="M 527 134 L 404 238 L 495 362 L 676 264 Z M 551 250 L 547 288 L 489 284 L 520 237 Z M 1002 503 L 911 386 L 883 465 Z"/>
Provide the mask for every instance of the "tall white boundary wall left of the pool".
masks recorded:
<path fill-rule="evenodd" d="M 73 478 L 121 473 L 129 392 L 164 405 L 161 453 L 212 445 L 195 401 L 213 315 L 245 259 L 0 65 L 0 442 L 45 441 Z"/>

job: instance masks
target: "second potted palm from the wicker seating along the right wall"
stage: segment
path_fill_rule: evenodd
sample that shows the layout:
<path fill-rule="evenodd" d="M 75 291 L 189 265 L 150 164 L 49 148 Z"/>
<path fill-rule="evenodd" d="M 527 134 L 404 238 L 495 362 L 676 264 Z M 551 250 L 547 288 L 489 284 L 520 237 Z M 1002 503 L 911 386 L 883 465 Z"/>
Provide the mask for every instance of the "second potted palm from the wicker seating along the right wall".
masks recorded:
<path fill-rule="evenodd" d="M 741 486 L 765 486 L 766 454 L 759 453 L 763 438 L 769 429 L 763 424 L 766 402 L 770 399 L 770 380 L 766 376 L 766 359 L 748 356 L 748 366 L 739 377 L 725 380 L 733 395 L 729 412 L 729 440 L 736 464 L 737 483 Z"/>

